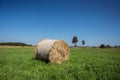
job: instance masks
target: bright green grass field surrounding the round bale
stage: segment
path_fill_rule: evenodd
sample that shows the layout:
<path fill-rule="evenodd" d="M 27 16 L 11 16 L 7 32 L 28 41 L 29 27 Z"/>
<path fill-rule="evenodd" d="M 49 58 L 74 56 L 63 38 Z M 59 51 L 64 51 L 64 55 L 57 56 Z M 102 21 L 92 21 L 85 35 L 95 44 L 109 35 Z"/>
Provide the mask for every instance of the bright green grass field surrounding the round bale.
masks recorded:
<path fill-rule="evenodd" d="M 71 48 L 69 62 L 34 59 L 34 47 L 0 48 L 0 80 L 120 80 L 120 49 Z"/>

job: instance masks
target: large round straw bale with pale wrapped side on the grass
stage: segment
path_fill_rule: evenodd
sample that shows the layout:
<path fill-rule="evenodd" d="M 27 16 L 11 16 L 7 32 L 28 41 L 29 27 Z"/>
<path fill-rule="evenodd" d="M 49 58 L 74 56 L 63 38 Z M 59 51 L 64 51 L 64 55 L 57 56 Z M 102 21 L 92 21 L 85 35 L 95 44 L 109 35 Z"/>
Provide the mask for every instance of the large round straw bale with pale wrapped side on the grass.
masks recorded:
<path fill-rule="evenodd" d="M 44 39 L 37 44 L 35 57 L 60 64 L 69 59 L 69 46 L 63 40 Z"/>

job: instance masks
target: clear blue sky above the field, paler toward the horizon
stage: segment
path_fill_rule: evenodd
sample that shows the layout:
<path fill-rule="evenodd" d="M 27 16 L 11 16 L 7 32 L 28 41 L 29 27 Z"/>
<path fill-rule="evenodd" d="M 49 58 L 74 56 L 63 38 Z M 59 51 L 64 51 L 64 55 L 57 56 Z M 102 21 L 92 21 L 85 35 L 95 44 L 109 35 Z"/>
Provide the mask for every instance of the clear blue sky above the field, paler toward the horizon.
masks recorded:
<path fill-rule="evenodd" d="M 120 45 L 120 0 L 0 0 L 0 42 L 72 45 L 73 36 L 78 45 Z"/>

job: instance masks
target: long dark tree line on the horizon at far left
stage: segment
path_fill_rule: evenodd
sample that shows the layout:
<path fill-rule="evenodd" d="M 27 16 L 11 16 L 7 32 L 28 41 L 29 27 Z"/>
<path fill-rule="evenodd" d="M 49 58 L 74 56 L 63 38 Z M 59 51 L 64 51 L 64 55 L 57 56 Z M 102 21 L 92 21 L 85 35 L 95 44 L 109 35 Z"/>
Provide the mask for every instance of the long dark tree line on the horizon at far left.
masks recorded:
<path fill-rule="evenodd" d="M 0 46 L 32 46 L 23 42 L 0 42 Z"/>

